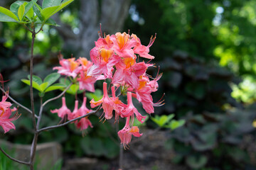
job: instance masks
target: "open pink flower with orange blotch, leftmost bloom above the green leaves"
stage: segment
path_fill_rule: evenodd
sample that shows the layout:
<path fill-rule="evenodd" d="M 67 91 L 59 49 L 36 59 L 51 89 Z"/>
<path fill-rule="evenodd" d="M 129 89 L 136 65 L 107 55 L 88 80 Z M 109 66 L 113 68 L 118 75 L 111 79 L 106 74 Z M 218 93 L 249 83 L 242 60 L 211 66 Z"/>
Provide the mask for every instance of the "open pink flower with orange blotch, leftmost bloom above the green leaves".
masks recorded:
<path fill-rule="evenodd" d="M 66 75 L 70 77 L 77 77 L 78 72 L 80 71 L 80 63 L 75 61 L 75 58 L 62 59 L 60 60 L 61 67 L 53 67 L 53 69 L 58 69 L 58 73 L 61 75 Z"/>

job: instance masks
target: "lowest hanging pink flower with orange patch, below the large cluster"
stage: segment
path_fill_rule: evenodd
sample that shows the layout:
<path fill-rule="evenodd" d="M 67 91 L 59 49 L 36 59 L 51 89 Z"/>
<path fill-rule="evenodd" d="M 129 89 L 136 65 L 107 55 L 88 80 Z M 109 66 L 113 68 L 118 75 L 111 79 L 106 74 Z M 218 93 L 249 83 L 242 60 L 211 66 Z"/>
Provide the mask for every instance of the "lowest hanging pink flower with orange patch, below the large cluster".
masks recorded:
<path fill-rule="evenodd" d="M 132 126 L 132 128 L 129 125 L 129 117 L 126 120 L 125 126 L 122 130 L 119 130 L 118 136 L 121 140 L 121 143 L 124 145 L 124 149 L 127 148 L 127 145 L 132 140 L 132 135 L 135 137 L 141 137 L 143 134 L 139 133 L 139 128 L 137 126 Z"/>

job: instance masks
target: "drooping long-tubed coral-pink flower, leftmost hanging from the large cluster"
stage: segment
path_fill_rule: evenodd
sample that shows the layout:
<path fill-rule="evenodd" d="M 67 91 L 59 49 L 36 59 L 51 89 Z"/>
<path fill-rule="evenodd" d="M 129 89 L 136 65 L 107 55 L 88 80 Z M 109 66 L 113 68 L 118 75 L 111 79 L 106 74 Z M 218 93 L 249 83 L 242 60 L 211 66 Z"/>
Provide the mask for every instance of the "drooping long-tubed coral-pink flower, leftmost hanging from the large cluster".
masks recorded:
<path fill-rule="evenodd" d="M 102 103 L 102 108 L 105 113 L 106 119 L 111 119 L 114 110 L 113 101 L 110 99 L 110 97 L 107 94 L 107 83 L 103 83 L 103 97 L 100 99 L 100 101 L 95 101 L 94 98 L 92 98 L 92 101 L 90 101 L 91 107 L 95 108 L 96 106 L 99 106 Z"/>

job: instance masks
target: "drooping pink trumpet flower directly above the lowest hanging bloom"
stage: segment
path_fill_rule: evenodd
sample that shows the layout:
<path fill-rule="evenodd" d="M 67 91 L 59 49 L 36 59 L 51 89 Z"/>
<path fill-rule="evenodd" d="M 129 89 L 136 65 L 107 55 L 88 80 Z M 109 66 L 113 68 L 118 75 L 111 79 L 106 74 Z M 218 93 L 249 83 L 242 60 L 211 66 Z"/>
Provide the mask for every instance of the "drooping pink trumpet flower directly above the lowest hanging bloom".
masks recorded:
<path fill-rule="evenodd" d="M 137 108 L 134 107 L 132 103 L 132 93 L 127 92 L 127 108 L 125 108 L 124 111 L 122 111 L 122 115 L 124 117 L 134 116 L 134 113 L 136 115 L 137 120 L 139 120 L 140 123 L 144 123 L 144 120 L 146 116 L 142 116 Z"/>

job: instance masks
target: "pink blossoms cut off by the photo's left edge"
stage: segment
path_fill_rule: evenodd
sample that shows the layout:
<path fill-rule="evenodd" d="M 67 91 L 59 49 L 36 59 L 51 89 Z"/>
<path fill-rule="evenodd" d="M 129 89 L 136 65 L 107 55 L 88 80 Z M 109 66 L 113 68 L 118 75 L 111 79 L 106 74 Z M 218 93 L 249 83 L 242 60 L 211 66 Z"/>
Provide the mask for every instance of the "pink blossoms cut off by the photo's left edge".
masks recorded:
<path fill-rule="evenodd" d="M 14 129 L 14 123 L 11 121 L 17 120 L 20 114 L 18 114 L 17 108 L 11 109 L 11 103 L 6 101 L 8 98 L 8 92 L 6 95 L 2 96 L 2 100 L 0 101 L 0 126 L 4 129 L 4 133 L 9 132 L 9 130 Z M 11 113 L 16 111 L 14 116 L 10 118 Z"/>

